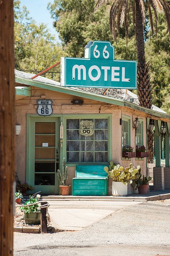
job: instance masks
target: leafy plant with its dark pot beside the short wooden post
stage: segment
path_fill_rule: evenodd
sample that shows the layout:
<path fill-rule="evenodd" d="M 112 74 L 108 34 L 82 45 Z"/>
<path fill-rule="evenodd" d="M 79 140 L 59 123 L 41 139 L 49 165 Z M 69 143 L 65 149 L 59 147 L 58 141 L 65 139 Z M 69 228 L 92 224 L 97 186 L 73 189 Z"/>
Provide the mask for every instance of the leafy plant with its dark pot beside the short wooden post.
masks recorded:
<path fill-rule="evenodd" d="M 34 204 L 40 200 L 40 194 L 29 196 L 25 204 L 20 207 L 24 211 L 24 220 L 26 224 L 38 225 L 41 222 L 41 212 L 38 209 L 38 204 Z M 29 204 L 34 204 L 29 206 Z"/>

